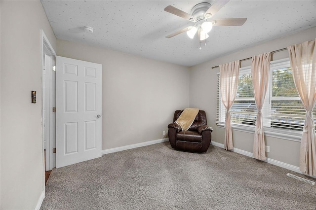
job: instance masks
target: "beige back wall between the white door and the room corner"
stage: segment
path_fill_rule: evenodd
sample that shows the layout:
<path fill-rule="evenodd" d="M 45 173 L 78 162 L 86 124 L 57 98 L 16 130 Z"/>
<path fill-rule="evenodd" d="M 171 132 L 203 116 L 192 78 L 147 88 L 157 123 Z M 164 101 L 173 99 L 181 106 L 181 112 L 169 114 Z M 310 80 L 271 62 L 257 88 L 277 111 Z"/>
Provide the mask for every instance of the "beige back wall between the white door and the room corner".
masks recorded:
<path fill-rule="evenodd" d="M 166 138 L 189 105 L 188 67 L 60 39 L 57 55 L 102 64 L 102 150 Z"/>

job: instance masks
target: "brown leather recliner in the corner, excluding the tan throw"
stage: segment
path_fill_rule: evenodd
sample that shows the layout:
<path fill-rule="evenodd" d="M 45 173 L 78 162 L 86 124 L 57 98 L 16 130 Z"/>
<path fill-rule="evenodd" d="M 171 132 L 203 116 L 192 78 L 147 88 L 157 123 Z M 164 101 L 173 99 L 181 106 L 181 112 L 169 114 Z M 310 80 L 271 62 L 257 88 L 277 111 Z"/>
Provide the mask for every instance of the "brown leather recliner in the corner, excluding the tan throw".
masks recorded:
<path fill-rule="evenodd" d="M 205 111 L 198 111 L 188 131 L 182 131 L 181 127 L 174 123 L 182 111 L 176 110 L 173 116 L 173 123 L 168 125 L 168 137 L 171 147 L 189 152 L 206 152 L 211 143 L 211 132 L 213 129 L 207 126 Z"/>

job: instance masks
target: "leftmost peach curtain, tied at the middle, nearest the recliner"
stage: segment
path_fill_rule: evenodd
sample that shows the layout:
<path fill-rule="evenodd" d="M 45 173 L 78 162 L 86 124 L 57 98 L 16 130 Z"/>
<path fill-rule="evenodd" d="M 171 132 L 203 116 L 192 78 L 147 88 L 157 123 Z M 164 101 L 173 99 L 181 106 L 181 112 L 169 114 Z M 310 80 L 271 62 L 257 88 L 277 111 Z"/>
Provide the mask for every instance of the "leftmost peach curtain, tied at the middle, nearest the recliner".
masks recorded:
<path fill-rule="evenodd" d="M 239 78 L 239 61 L 219 65 L 219 69 L 222 102 L 227 109 L 225 118 L 225 149 L 228 150 L 234 148 L 231 113 L 229 109 L 232 107 L 236 97 Z"/>

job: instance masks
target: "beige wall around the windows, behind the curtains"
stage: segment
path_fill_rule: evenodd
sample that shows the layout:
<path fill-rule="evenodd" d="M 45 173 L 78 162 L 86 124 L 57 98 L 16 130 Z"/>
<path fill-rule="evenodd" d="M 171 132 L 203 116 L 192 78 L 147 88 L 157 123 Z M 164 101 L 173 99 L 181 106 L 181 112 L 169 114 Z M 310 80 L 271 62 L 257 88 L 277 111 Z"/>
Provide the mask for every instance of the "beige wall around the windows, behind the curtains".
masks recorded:
<path fill-rule="evenodd" d="M 217 59 L 196 65 L 190 68 L 190 106 L 200 107 L 207 114 L 209 126 L 212 126 L 212 141 L 224 143 L 224 129 L 215 124 L 216 120 L 216 97 L 217 97 L 217 72 L 219 68 L 211 67 L 225 64 L 235 60 L 249 58 L 263 52 L 274 51 L 285 48 L 289 45 L 302 43 L 315 39 L 316 28 L 312 28 L 294 35 L 284 36 L 260 45 L 244 49 L 242 51 L 222 56 Z M 273 59 L 288 57 L 286 51 L 275 53 Z M 241 67 L 249 66 L 250 61 L 241 62 Z M 234 147 L 248 152 L 252 152 L 253 134 L 233 131 Z M 290 165 L 299 166 L 300 142 L 265 137 L 266 145 L 270 146 L 270 153 L 266 153 L 268 158 L 272 158 Z"/>

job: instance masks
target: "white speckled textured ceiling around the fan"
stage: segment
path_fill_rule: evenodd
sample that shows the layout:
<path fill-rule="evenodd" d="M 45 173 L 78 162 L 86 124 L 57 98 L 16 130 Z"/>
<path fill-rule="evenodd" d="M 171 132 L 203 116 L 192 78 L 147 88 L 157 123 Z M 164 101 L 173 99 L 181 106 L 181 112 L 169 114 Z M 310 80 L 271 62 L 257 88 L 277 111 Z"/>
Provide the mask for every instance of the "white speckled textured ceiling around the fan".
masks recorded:
<path fill-rule="evenodd" d="M 163 9 L 172 5 L 190 13 L 200 2 L 214 1 L 41 0 L 59 39 L 184 66 L 316 26 L 316 0 L 231 0 L 210 20 L 246 17 L 243 26 L 214 26 L 201 50 L 199 40 L 186 33 L 165 38 L 194 23 Z M 85 26 L 94 33 L 85 33 Z"/>

